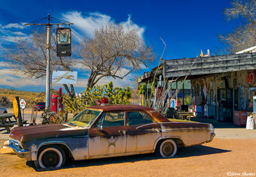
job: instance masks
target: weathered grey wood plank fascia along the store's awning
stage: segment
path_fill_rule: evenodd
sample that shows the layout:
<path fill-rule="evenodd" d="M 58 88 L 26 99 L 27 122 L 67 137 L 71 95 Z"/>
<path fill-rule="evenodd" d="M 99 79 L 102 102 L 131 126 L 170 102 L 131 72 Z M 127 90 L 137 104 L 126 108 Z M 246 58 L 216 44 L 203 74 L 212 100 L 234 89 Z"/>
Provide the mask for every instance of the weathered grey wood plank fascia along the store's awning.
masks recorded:
<path fill-rule="evenodd" d="M 163 62 L 164 78 L 256 69 L 256 53 L 210 56 L 204 58 L 170 59 Z"/>

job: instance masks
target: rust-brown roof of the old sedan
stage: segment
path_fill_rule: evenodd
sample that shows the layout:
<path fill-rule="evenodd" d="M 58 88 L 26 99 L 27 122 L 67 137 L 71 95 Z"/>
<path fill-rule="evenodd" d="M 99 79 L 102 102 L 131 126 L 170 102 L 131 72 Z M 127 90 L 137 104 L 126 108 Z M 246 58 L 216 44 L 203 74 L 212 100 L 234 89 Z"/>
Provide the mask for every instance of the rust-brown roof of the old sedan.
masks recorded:
<path fill-rule="evenodd" d="M 95 105 L 87 107 L 89 109 L 101 109 L 103 111 L 150 111 L 152 107 L 143 105 Z"/>

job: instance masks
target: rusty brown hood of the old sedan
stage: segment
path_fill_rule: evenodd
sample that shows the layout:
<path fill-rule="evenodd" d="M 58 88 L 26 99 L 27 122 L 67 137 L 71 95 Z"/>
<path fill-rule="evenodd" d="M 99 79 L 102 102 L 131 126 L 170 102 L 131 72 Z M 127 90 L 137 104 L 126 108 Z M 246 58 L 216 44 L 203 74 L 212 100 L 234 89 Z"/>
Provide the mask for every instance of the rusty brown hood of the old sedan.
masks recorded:
<path fill-rule="evenodd" d="M 32 125 L 13 128 L 10 137 L 20 142 L 35 139 L 50 139 L 60 137 L 77 137 L 88 135 L 88 128 L 72 127 L 67 124 Z"/>

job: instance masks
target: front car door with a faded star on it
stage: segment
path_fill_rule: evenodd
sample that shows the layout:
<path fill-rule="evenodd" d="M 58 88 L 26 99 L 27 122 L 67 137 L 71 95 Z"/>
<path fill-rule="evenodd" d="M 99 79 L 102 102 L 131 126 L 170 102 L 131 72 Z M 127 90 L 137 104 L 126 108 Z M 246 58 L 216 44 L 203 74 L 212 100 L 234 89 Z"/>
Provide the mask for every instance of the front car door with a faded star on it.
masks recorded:
<path fill-rule="evenodd" d="M 125 153 L 124 112 L 104 112 L 89 130 L 89 157 Z"/>

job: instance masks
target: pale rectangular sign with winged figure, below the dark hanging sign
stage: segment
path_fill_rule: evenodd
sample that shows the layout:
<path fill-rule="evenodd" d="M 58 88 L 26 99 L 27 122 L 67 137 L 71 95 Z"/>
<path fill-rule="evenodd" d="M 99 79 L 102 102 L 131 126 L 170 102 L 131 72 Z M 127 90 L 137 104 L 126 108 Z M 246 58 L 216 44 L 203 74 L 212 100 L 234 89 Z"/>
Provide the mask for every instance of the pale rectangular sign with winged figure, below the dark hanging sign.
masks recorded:
<path fill-rule="evenodd" d="M 52 84 L 76 84 L 77 72 L 52 72 Z"/>

